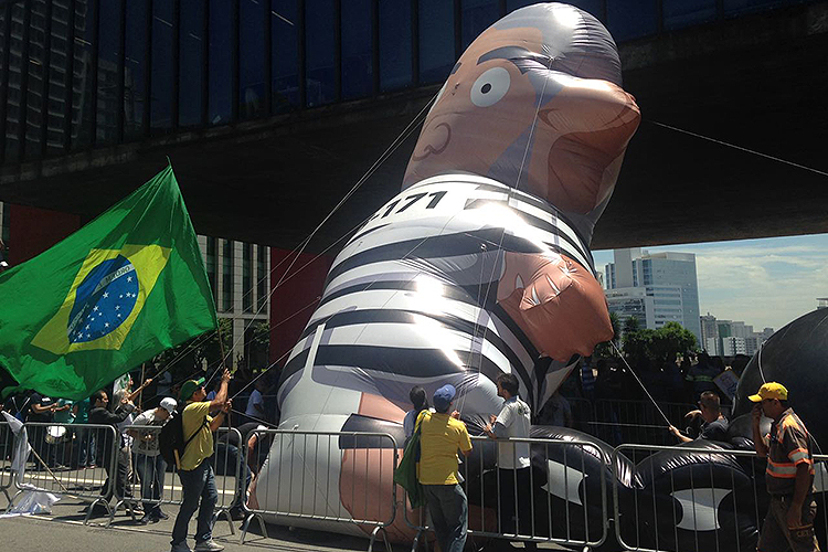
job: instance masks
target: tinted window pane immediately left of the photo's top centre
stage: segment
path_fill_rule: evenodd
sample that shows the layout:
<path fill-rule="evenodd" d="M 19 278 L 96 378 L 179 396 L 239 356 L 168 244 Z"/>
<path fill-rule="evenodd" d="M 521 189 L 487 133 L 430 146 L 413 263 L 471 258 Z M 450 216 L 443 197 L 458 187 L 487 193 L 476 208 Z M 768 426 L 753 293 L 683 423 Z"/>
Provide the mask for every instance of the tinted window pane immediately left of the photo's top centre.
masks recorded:
<path fill-rule="evenodd" d="M 380 89 L 412 83 L 411 2 L 380 2 Z"/>

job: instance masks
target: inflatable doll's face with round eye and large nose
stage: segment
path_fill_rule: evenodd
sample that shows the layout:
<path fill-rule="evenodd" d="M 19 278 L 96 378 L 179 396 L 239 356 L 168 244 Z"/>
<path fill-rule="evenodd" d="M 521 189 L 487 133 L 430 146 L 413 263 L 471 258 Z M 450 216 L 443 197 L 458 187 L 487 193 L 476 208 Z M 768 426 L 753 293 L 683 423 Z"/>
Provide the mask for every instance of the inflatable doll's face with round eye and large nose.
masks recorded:
<path fill-rule="evenodd" d="M 588 213 L 612 192 L 639 112 L 619 86 L 543 54 L 534 28 L 488 29 L 455 65 L 425 120 L 404 185 L 473 172 Z"/>

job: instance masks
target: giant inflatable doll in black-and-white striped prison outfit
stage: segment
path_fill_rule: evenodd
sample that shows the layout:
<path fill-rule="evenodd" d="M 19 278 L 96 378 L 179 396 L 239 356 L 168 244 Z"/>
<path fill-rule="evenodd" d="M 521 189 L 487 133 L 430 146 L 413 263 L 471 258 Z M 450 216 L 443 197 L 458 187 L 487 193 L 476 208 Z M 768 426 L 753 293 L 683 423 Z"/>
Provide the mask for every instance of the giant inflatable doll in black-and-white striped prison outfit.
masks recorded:
<path fill-rule="evenodd" d="M 279 427 L 400 435 L 411 388 L 431 396 L 446 383 L 480 424 L 500 410 L 502 372 L 538 410 L 612 337 L 590 241 L 639 118 L 615 43 L 588 13 L 535 4 L 480 34 L 434 102 L 402 192 L 333 262 L 282 372 Z M 541 355 L 552 359 L 542 372 Z M 259 507 L 355 532 L 318 519 L 388 513 L 390 445 L 344 442 L 360 448 L 277 438 Z M 406 539 L 401 520 L 394 537 Z"/>

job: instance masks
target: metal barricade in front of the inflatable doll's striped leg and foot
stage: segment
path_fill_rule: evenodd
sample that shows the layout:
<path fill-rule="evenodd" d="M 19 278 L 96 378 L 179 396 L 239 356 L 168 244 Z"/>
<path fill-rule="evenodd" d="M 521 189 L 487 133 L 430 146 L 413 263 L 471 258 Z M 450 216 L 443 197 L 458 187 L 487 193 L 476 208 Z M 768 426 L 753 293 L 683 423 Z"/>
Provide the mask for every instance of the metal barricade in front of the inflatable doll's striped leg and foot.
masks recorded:
<path fill-rule="evenodd" d="M 393 436 L 261 429 L 250 432 L 244 443 L 252 445 L 256 502 L 245 506 L 242 543 L 256 518 L 267 535 L 263 517 L 268 516 L 270 521 L 299 527 L 314 520 L 322 530 L 325 522 L 353 524 L 370 533 L 369 551 L 380 534 L 388 545 L 385 528 L 396 516 L 393 474 L 399 454 Z"/>

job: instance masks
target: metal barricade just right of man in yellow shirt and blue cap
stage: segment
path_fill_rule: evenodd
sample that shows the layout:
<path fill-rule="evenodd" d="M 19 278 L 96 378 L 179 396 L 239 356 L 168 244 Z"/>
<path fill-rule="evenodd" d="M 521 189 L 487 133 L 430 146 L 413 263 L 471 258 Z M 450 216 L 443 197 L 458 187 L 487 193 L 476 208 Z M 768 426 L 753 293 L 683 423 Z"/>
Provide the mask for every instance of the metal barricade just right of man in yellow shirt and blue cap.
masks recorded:
<path fill-rule="evenodd" d="M 607 480 L 613 479 L 611 458 L 593 443 L 540 438 L 489 439 L 471 437 L 471 454 L 460 473 L 468 499 L 470 538 L 556 543 L 597 548 L 608 535 Z M 528 447 L 520 450 L 521 444 Z M 527 469 L 498 468 L 501 453 L 511 465 L 529 455 Z M 405 522 L 416 531 L 412 551 L 429 529 L 424 511 Z"/>

